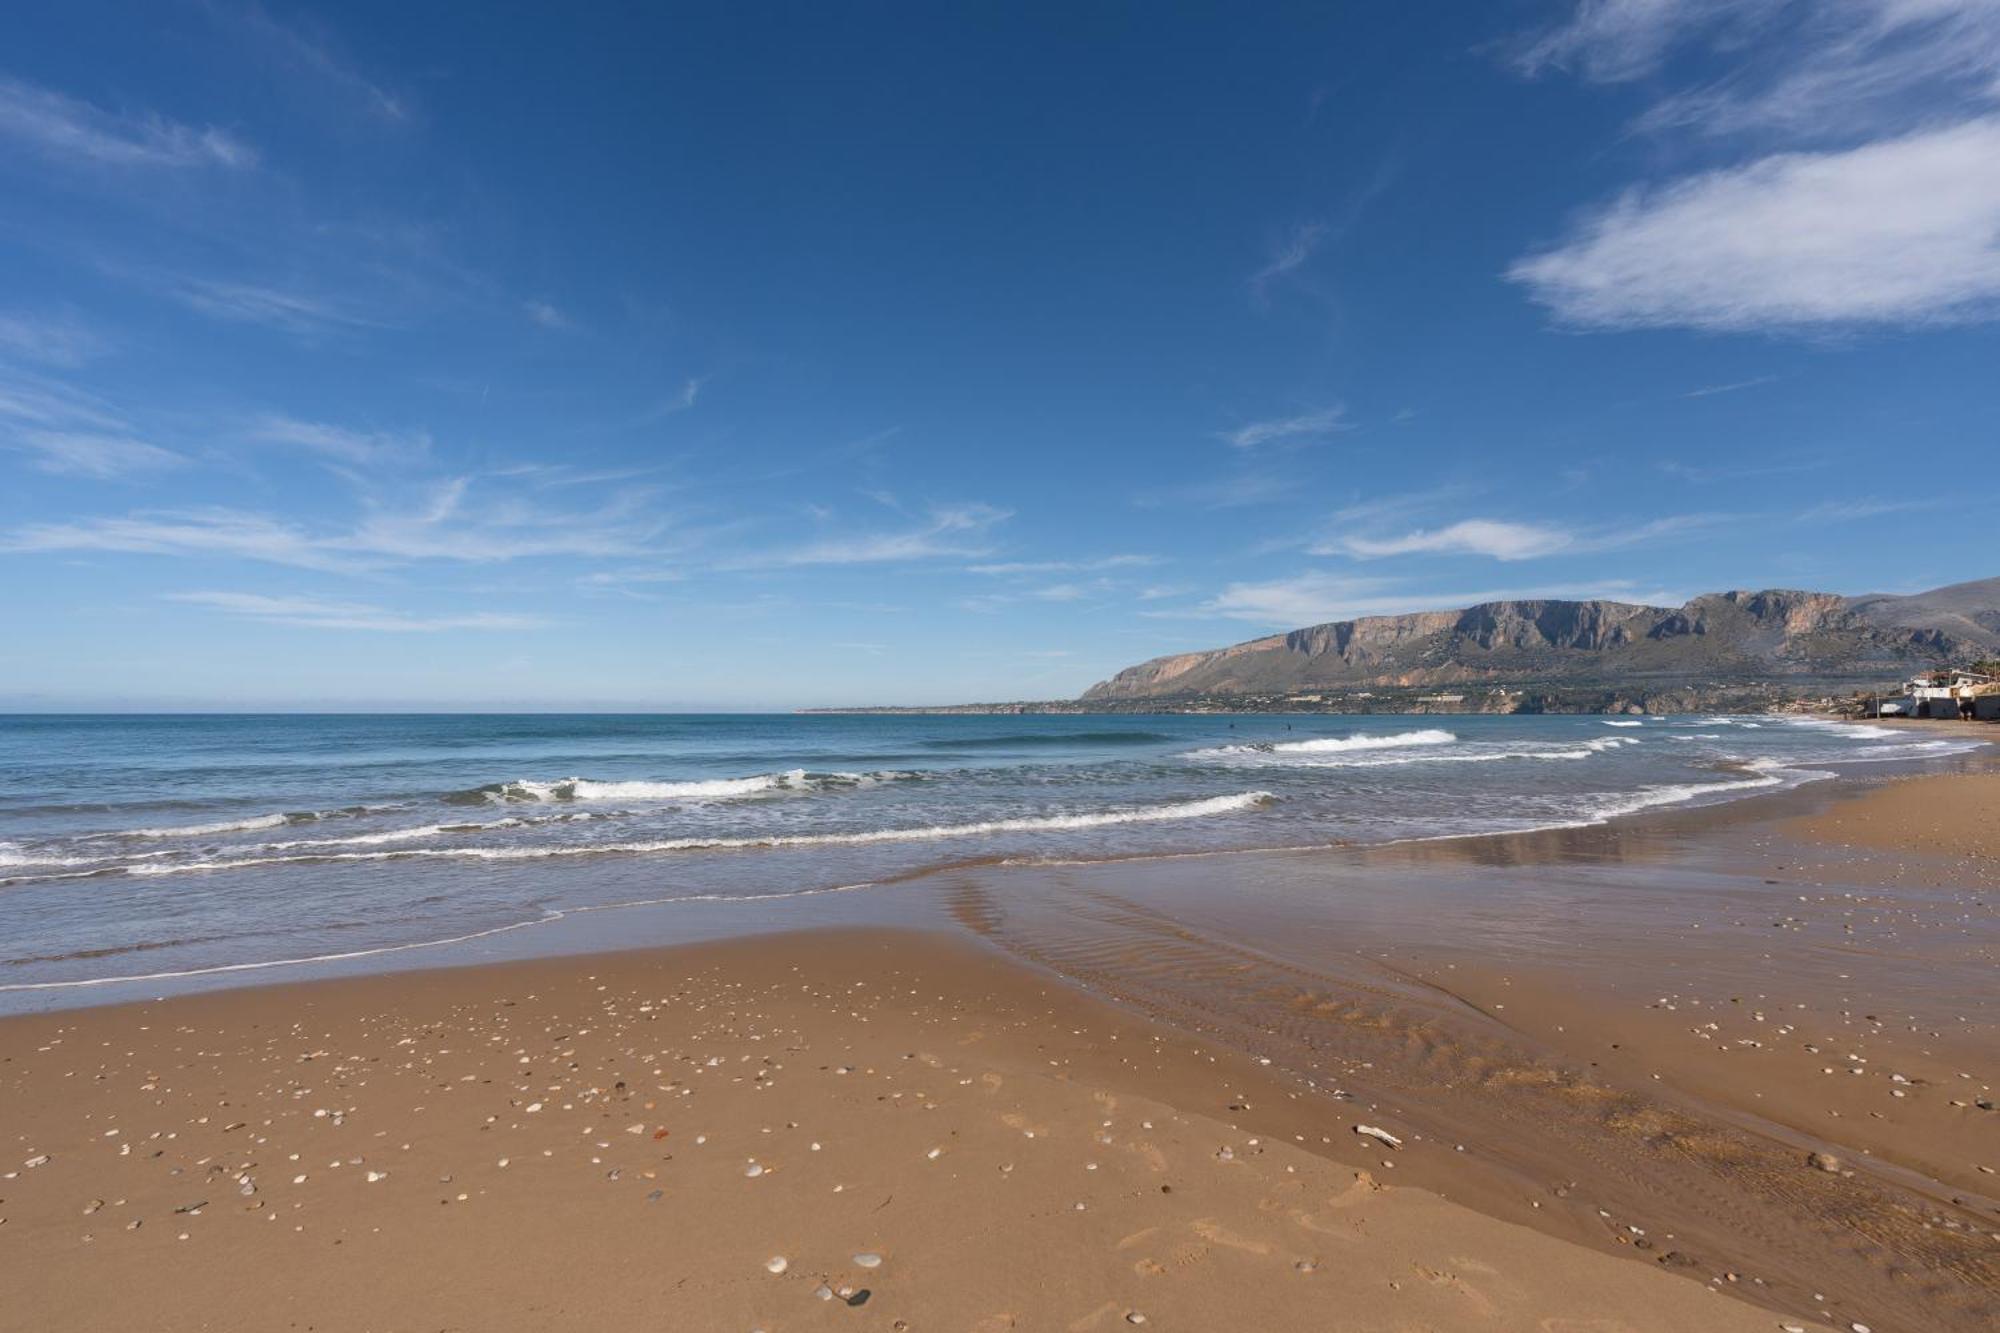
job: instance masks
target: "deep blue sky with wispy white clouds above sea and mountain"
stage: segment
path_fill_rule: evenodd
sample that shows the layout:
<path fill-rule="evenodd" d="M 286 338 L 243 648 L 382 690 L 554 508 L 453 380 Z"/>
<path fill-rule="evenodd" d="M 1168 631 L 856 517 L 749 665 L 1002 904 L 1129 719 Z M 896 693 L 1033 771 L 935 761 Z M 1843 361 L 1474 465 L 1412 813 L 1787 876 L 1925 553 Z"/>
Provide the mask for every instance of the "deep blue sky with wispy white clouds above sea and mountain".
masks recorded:
<path fill-rule="evenodd" d="M 2000 574 L 2000 0 L 20 6 L 0 709 Z"/>

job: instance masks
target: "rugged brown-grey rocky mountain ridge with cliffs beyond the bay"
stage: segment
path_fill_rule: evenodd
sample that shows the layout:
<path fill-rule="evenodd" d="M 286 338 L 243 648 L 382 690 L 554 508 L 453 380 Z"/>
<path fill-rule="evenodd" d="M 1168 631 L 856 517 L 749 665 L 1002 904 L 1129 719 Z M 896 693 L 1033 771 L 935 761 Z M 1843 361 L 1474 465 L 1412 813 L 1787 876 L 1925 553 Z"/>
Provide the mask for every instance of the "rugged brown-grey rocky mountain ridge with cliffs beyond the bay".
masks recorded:
<path fill-rule="evenodd" d="M 1084 699 L 1370 685 L 1862 683 L 1986 654 L 2000 654 L 2000 578 L 1916 596 L 1772 588 L 1712 592 L 1686 606 L 1534 600 L 1366 616 L 1160 656 Z"/>

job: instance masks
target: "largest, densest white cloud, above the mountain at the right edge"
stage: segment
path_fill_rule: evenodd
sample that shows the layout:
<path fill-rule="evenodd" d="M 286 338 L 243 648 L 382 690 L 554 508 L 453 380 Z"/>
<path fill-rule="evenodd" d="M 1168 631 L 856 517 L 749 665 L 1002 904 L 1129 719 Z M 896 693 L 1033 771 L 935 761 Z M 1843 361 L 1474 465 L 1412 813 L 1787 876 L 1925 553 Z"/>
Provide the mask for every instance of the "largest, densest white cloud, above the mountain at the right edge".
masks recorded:
<path fill-rule="evenodd" d="M 1924 324 L 2000 306 L 2000 118 L 1634 188 L 1508 276 L 1592 328 Z"/>

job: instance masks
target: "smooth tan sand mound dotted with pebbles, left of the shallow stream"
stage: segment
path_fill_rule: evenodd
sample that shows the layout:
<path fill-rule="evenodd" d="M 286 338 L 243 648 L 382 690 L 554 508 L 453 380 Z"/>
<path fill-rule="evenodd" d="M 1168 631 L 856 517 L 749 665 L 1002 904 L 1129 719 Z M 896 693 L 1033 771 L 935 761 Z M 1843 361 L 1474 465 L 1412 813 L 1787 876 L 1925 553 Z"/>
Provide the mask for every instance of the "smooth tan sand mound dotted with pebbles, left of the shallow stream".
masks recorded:
<path fill-rule="evenodd" d="M 12 1019 L 0 1105 L 8 1329 L 1824 1327 L 938 935 Z"/>

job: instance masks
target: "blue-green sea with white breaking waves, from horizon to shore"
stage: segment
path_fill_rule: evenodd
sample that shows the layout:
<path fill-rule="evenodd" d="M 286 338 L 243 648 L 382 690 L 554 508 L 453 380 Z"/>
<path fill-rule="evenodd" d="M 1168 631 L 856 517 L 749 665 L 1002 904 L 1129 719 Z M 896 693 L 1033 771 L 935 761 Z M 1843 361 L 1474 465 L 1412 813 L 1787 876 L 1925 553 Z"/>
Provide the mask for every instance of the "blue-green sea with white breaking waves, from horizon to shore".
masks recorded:
<path fill-rule="evenodd" d="M 1596 825 L 1978 745 L 1788 717 L 0 717 L 0 999 L 624 905 L 782 917 L 954 863 Z"/>

